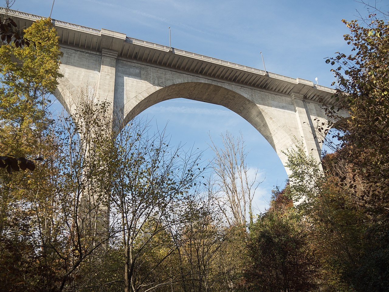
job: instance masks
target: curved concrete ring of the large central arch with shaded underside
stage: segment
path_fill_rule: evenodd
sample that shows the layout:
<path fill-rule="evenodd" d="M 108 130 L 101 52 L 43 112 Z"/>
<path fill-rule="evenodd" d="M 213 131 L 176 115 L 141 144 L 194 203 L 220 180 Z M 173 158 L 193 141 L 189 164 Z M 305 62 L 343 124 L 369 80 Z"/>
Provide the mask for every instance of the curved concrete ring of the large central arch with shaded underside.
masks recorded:
<path fill-rule="evenodd" d="M 236 88 L 229 84 L 215 84 L 200 78 L 168 80 L 142 91 L 124 105 L 127 114 L 124 116 L 121 128 L 145 109 L 175 98 L 217 104 L 237 113 L 265 137 L 283 164 L 286 163 L 286 156 L 282 151 L 296 144 L 293 134 L 286 127 L 280 126 L 266 109 L 258 106 L 246 93 L 237 92 Z M 130 109 L 134 99 L 135 106 Z"/>

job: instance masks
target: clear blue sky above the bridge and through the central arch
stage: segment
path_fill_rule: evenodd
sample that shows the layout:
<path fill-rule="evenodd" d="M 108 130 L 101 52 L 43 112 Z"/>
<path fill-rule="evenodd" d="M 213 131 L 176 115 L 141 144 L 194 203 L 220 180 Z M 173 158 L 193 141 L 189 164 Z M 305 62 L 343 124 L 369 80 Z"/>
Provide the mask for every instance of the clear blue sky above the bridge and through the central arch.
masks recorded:
<path fill-rule="evenodd" d="M 387 9 L 385 1 L 377 2 Z M 16 0 L 12 9 L 47 17 L 52 4 Z M 262 51 L 267 71 L 311 81 L 317 77 L 319 84 L 330 86 L 334 79 L 324 58 L 349 51 L 342 19 L 357 19 L 359 14 L 368 11 L 353 0 L 55 0 L 51 17 L 166 46 L 170 26 L 172 47 L 258 69 L 263 69 Z M 270 144 L 224 107 L 175 99 L 142 114 L 159 128 L 167 124 L 173 143 L 205 150 L 203 160 L 212 157 L 209 134 L 217 142 L 226 130 L 234 135 L 241 131 L 250 151 L 247 163 L 265 179 L 255 200 L 257 211 L 268 206 L 273 186 L 285 183 L 285 169 Z"/>

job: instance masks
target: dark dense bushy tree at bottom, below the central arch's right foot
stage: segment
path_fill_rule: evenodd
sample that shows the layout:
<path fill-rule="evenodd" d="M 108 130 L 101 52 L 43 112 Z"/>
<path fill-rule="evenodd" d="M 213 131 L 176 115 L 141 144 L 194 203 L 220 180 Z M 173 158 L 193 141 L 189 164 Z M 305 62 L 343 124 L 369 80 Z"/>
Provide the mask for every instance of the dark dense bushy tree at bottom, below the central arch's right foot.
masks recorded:
<path fill-rule="evenodd" d="M 250 226 L 250 265 L 244 276 L 249 291 L 312 291 L 319 262 L 305 220 L 291 204 L 289 189 L 273 192 L 272 208 Z"/>

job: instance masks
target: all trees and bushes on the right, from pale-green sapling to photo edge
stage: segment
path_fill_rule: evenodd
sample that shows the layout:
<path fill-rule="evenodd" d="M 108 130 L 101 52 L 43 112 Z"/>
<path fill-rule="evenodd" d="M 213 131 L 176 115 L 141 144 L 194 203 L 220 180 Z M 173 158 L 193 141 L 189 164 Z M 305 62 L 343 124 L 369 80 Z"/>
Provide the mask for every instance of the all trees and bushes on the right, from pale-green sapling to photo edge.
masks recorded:
<path fill-rule="evenodd" d="M 334 99 L 350 114 L 342 119 L 338 109 L 328 109 L 340 148 L 324 157 L 324 176 L 301 150 L 289 155 L 296 182 L 291 190 L 305 197 L 298 210 L 312 226 L 312 242 L 321 247 L 324 286 L 334 291 L 389 287 L 389 24 L 376 15 L 361 21 L 365 27 L 343 20 L 350 29 L 344 38 L 355 53 L 326 61 L 335 66 L 339 84 Z"/>

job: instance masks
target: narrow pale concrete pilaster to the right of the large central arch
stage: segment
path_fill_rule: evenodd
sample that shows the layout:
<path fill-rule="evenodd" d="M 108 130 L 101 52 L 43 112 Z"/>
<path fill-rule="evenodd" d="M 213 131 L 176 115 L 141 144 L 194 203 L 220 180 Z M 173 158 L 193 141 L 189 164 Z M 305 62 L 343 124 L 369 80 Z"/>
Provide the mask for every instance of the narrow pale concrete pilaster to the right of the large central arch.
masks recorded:
<path fill-rule="evenodd" d="M 314 129 L 311 128 L 308 113 L 303 102 L 303 95 L 301 93 L 293 92 L 291 94 L 291 98 L 305 151 L 307 154 L 311 154 L 318 162 L 320 162 L 320 146 L 317 145 L 317 138 L 314 133 Z M 296 138 L 300 139 L 300 137 Z"/>

